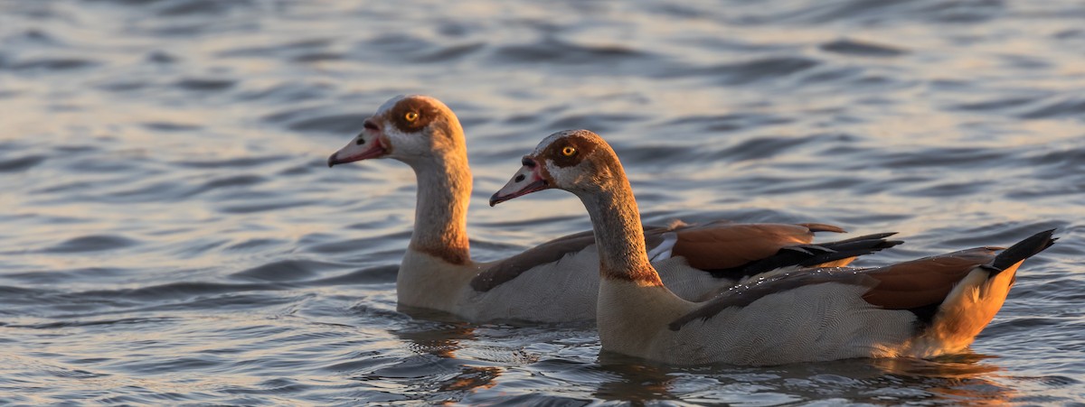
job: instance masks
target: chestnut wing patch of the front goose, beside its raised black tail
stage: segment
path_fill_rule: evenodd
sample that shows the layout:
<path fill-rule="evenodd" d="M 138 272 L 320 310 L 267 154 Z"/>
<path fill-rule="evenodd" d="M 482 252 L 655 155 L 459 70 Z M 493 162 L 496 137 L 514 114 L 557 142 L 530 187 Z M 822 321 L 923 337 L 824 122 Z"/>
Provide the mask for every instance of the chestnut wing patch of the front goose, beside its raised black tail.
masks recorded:
<path fill-rule="evenodd" d="M 878 285 L 863 299 L 889 310 L 910 310 L 942 303 L 954 285 L 975 266 L 990 263 L 1003 248 L 981 247 L 934 255 L 864 274 Z"/>

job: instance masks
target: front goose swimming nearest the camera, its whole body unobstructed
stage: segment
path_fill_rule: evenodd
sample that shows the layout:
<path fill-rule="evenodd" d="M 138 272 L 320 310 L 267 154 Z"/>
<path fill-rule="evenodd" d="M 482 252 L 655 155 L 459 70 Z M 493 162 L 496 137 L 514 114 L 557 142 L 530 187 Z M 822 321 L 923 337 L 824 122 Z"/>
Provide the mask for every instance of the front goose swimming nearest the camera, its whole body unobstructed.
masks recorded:
<path fill-rule="evenodd" d="M 490 202 L 547 188 L 575 194 L 591 216 L 603 351 L 676 365 L 956 353 L 1001 307 L 1021 262 L 1055 241 L 1046 231 L 1006 250 L 780 274 L 691 302 L 664 287 L 649 263 L 629 182 L 599 135 L 576 130 L 545 139 Z"/>

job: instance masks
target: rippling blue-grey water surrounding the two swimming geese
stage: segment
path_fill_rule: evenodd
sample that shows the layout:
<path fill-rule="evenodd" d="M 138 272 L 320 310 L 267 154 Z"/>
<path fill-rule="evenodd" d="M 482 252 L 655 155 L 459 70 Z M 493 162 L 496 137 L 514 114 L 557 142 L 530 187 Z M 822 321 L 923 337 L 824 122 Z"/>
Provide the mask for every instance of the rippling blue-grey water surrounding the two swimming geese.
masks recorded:
<path fill-rule="evenodd" d="M 0 0 L 10 404 L 955 405 L 1085 399 L 1085 6 L 1074 1 Z M 326 168 L 399 93 L 450 105 L 476 259 L 589 227 L 488 208 L 592 129 L 644 218 L 898 231 L 878 265 L 1058 227 L 972 352 L 667 368 L 590 326 L 396 311 L 413 174 Z"/>

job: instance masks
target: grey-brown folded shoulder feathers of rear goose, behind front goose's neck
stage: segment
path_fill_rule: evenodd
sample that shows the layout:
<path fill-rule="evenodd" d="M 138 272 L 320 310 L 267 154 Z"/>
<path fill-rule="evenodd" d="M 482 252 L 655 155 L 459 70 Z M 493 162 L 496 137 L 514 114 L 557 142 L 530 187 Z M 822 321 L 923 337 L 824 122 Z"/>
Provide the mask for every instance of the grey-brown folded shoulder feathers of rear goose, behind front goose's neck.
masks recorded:
<path fill-rule="evenodd" d="M 661 226 L 644 226 L 644 240 L 648 242 L 648 247 L 659 245 L 663 240 L 660 234 L 667 229 L 667 227 Z M 519 277 L 528 270 L 541 264 L 553 263 L 566 254 L 578 252 L 595 244 L 596 237 L 591 231 L 559 237 L 492 264 L 471 279 L 471 288 L 474 288 L 475 291 L 489 291 L 494 287 Z"/>

